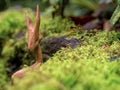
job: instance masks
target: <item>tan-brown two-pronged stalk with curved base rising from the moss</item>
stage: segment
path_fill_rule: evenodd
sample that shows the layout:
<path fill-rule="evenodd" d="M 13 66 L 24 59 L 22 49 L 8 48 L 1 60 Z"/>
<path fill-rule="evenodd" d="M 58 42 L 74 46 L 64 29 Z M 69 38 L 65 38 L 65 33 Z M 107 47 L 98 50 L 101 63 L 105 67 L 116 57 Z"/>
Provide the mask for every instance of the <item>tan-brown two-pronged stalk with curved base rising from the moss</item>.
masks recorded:
<path fill-rule="evenodd" d="M 37 5 L 36 10 L 36 23 L 33 24 L 30 19 L 28 12 L 26 12 L 27 28 L 28 28 L 28 50 L 35 54 L 36 62 L 28 68 L 23 68 L 12 75 L 14 78 L 23 78 L 27 71 L 35 70 L 43 63 L 42 51 L 39 46 L 39 43 L 42 39 L 42 35 L 39 35 L 39 26 L 40 26 L 40 10 Z"/>

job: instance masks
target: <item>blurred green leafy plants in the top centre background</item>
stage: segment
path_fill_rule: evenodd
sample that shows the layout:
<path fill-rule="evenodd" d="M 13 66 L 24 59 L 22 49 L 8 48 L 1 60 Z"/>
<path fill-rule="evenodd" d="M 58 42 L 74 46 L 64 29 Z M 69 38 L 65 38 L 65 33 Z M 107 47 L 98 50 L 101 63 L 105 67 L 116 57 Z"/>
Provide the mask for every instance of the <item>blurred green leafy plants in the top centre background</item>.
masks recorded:
<path fill-rule="evenodd" d="M 111 3 L 112 0 L 42 0 L 49 1 L 46 12 L 61 16 L 84 16 L 100 8 L 101 3 Z"/>

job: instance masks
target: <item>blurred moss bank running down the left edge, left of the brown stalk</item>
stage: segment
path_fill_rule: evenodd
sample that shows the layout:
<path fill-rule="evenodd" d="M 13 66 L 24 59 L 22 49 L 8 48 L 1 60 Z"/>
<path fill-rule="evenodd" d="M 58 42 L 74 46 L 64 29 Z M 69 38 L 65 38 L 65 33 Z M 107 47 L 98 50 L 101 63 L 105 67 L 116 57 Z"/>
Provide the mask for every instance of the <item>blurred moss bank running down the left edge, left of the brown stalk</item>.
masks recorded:
<path fill-rule="evenodd" d="M 23 13 L 18 11 L 8 10 L 0 13 L 0 90 L 5 90 L 5 84 L 10 81 L 7 72 L 11 67 L 6 66 L 9 64 L 9 60 L 15 57 L 16 49 L 14 45 L 16 40 L 12 38 L 14 38 L 19 31 L 24 30 L 24 22 Z"/>

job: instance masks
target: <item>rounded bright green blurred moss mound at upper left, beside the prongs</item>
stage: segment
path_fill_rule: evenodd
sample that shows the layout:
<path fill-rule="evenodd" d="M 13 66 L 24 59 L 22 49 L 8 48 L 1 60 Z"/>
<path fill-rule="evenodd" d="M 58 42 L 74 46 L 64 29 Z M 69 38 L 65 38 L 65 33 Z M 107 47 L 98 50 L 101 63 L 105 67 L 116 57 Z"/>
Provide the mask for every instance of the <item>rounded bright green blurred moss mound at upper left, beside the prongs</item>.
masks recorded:
<path fill-rule="evenodd" d="M 8 10 L 0 15 L 0 36 L 12 36 L 25 29 L 25 16 L 16 10 Z M 14 33 L 14 34 L 13 34 Z"/>

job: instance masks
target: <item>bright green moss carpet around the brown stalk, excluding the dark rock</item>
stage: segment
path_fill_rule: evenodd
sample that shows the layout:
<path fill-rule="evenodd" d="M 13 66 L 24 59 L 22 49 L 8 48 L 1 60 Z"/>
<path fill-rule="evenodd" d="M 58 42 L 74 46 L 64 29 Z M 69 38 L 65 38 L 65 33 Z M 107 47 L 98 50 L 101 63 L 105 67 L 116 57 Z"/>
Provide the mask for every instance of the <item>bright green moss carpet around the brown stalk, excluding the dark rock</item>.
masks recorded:
<path fill-rule="evenodd" d="M 80 38 L 83 44 L 75 49 L 59 50 L 39 70 L 28 72 L 25 78 L 15 80 L 15 85 L 11 86 L 7 82 L 6 71 L 18 63 L 28 65 L 32 60 L 27 52 L 25 35 L 19 37 L 21 32 L 26 32 L 25 17 L 21 12 L 6 11 L 0 17 L 0 39 L 3 41 L 0 53 L 2 89 L 6 85 L 8 90 L 119 90 L 120 32 L 74 32 L 73 29 L 73 33 L 69 33 L 68 30 L 74 24 L 68 19 L 56 17 L 52 20 L 43 16 L 40 32 L 45 37 L 69 33 L 68 38 Z M 104 45 L 108 46 L 103 48 Z M 110 62 L 113 57 L 114 61 Z M 20 62 L 11 64 L 13 61 Z"/>

